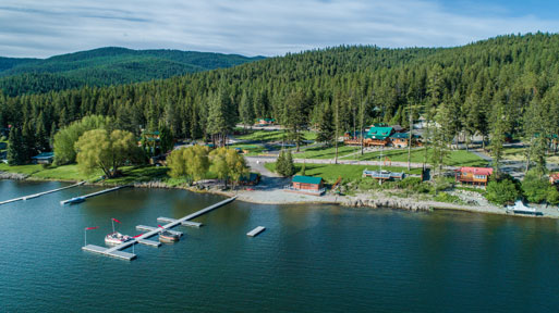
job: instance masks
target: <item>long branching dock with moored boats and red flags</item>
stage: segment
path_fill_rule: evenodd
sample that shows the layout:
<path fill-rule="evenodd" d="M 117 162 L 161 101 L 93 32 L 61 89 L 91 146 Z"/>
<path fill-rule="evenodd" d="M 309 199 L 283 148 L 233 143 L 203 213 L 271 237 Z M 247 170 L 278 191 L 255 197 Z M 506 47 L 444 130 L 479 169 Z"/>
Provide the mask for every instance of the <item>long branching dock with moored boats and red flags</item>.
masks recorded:
<path fill-rule="evenodd" d="M 150 245 L 149 242 L 156 242 L 156 241 L 151 241 L 151 240 L 146 240 L 147 238 L 150 238 L 150 237 L 154 237 L 156 235 L 158 235 L 162 229 L 166 229 L 166 230 L 169 230 L 169 231 L 173 231 L 173 233 L 180 233 L 182 235 L 181 231 L 175 231 L 175 230 L 170 230 L 170 228 L 173 228 L 175 226 L 179 226 L 179 225 L 183 225 L 182 223 L 183 222 L 189 222 L 190 220 L 193 220 L 193 218 L 196 218 L 200 215 L 204 215 L 210 211 L 214 211 L 218 208 L 221 208 L 226 204 L 229 204 L 231 202 L 233 202 L 234 200 L 236 199 L 236 197 L 232 197 L 232 198 L 229 198 L 229 199 L 226 199 L 223 201 L 220 201 L 216 204 L 212 204 L 206 209 L 203 209 L 203 210 L 199 210 L 199 211 L 196 211 L 190 215 L 186 215 L 182 218 L 179 218 L 179 220 L 174 220 L 174 218 L 170 218 L 170 220 L 173 220 L 173 222 L 170 222 L 169 224 L 166 224 L 161 227 L 151 227 L 151 226 L 145 226 L 145 225 L 138 225 L 136 226 L 136 229 L 143 229 L 143 230 L 148 230 L 148 233 L 137 237 L 137 238 L 134 238 L 130 241 L 126 241 L 126 242 L 123 242 L 121 245 L 118 245 L 118 246 L 114 246 L 112 248 L 105 248 L 105 247 L 99 247 L 99 246 L 95 246 L 95 245 L 87 245 L 85 247 L 82 247 L 82 249 L 84 251 L 88 251 L 88 252 L 94 252 L 94 253 L 99 253 L 99 254 L 102 254 L 102 255 L 106 255 L 106 256 L 112 256 L 112 258 L 118 258 L 118 259 L 122 259 L 122 260 L 129 260 L 129 261 L 132 261 L 134 259 L 136 259 L 136 254 L 133 254 L 133 253 L 129 253 L 129 252 L 123 252 L 121 250 L 124 250 L 129 247 L 131 247 L 132 245 L 136 245 L 136 243 L 143 243 L 143 245 L 148 245 L 148 246 L 153 246 L 153 243 Z M 162 229 L 161 229 L 162 228 Z M 159 242 L 157 242 L 159 243 Z M 157 246 L 159 247 L 159 246 Z"/>

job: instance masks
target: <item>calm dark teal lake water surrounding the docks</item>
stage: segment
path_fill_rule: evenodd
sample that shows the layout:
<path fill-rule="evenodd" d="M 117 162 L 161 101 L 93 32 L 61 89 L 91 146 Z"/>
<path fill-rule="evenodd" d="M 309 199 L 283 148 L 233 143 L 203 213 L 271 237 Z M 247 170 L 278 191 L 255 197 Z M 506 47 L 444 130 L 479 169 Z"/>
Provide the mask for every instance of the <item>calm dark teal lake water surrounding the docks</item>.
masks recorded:
<path fill-rule="evenodd" d="M 0 201 L 65 185 L 0 180 Z M 0 311 L 559 312 L 555 220 L 235 201 L 129 262 L 82 251 L 84 228 L 105 246 L 111 217 L 137 235 L 223 198 L 127 188 L 59 203 L 100 189 L 0 205 Z"/>

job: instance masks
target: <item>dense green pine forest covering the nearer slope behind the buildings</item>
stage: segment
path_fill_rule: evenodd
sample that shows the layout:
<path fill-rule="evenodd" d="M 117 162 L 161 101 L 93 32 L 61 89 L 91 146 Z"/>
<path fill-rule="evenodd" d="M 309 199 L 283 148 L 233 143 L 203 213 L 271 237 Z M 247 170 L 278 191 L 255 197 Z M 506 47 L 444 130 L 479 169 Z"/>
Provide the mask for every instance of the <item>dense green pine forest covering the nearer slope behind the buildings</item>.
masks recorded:
<path fill-rule="evenodd" d="M 165 124 L 178 138 L 210 138 L 257 117 L 295 133 L 305 125 L 343 132 L 372 122 L 405 127 L 411 113 L 440 124 L 432 135 L 440 145 L 459 134 L 532 140 L 559 134 L 557 51 L 559 35 L 549 34 L 447 49 L 337 47 L 163 80 L 3 95 L 0 125 L 17 127 L 40 151 L 57 129 L 88 114 L 112 116 L 114 127 L 135 134 Z"/>

